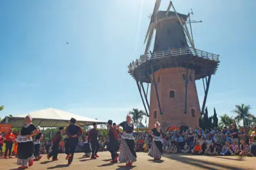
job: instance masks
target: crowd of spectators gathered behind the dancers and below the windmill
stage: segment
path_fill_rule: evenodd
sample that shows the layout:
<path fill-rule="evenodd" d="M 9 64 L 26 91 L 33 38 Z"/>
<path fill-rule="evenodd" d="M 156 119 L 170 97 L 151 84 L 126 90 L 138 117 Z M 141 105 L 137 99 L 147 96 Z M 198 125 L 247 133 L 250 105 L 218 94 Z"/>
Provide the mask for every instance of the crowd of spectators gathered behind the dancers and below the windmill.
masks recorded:
<path fill-rule="evenodd" d="M 232 124 L 223 129 L 191 129 L 179 131 L 163 131 L 162 143 L 164 153 L 191 153 L 205 155 L 241 155 L 255 156 L 256 126 L 239 127 Z M 65 153 L 65 139 L 60 141 L 60 153 Z M 136 152 L 148 152 L 152 145 L 152 137 L 148 132 L 134 132 Z M 107 137 L 99 134 L 99 151 L 107 150 Z M 84 136 L 77 143 L 76 152 L 84 152 Z M 0 141 L 2 143 L 2 141 Z M 41 141 L 40 152 L 51 152 L 51 140 Z M 254 148 L 252 146 L 255 146 Z M 122 146 L 120 146 L 120 149 Z M 15 155 L 15 153 L 13 153 Z"/>

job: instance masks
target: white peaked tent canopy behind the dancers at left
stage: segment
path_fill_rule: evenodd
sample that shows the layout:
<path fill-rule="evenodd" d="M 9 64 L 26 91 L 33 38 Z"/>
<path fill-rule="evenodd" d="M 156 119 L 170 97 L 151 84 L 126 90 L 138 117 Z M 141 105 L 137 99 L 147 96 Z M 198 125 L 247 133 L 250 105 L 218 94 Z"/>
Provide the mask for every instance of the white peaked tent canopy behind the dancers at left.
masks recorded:
<path fill-rule="evenodd" d="M 30 115 L 34 125 L 40 125 L 40 127 L 61 127 L 67 126 L 70 123 L 70 118 L 76 118 L 76 124 L 78 125 L 92 125 L 94 122 L 97 124 L 106 124 L 100 120 L 93 118 L 81 117 L 73 113 L 68 113 L 62 110 L 56 110 L 49 108 L 46 110 L 35 111 L 32 113 L 18 115 L 13 117 L 5 117 L 1 123 L 11 124 L 12 127 L 22 127 L 25 123 L 25 117 Z"/>

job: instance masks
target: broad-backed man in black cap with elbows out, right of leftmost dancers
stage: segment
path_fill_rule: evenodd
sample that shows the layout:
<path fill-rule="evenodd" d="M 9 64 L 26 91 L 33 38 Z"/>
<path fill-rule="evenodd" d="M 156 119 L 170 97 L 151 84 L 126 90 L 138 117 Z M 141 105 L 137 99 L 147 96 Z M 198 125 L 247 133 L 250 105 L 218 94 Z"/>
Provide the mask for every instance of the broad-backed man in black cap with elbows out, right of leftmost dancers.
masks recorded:
<path fill-rule="evenodd" d="M 76 119 L 71 118 L 70 125 L 66 127 L 65 132 L 68 136 L 67 148 L 66 148 L 66 154 L 67 154 L 66 160 L 68 160 L 68 165 L 70 165 L 73 161 L 78 139 L 83 134 L 83 131 L 81 127 L 79 127 L 79 125 L 76 125 Z"/>

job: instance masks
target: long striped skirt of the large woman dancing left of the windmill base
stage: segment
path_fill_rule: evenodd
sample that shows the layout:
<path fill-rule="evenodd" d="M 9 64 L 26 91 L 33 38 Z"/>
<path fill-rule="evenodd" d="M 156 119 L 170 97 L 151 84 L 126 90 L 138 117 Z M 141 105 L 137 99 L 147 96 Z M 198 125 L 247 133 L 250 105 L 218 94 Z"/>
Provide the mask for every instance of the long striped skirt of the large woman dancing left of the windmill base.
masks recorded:
<path fill-rule="evenodd" d="M 126 140 L 123 138 L 121 139 L 121 146 L 122 146 L 122 150 L 120 151 L 120 155 L 119 155 L 119 159 L 118 159 L 120 161 L 120 163 L 124 163 L 124 162 L 127 163 L 129 160 L 131 162 L 135 162 L 136 157 L 132 154 L 129 146 L 127 145 Z M 135 150 L 134 150 L 134 152 L 135 152 Z"/>

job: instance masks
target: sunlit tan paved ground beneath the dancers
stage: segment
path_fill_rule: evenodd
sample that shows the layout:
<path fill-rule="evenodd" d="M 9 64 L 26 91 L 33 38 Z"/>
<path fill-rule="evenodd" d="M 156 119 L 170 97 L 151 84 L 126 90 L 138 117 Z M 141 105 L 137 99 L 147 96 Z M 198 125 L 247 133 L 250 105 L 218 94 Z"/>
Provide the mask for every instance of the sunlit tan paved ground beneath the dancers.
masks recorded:
<path fill-rule="evenodd" d="M 48 161 L 44 157 L 39 162 L 35 162 L 33 167 L 29 170 L 42 170 L 42 169 L 168 169 L 168 170 L 256 170 L 256 158 L 244 157 L 207 157 L 207 156 L 193 156 L 193 155 L 164 155 L 163 162 L 154 162 L 147 153 L 138 153 L 138 161 L 134 162 L 133 167 L 125 167 L 125 164 L 110 164 L 110 154 L 108 152 L 100 152 L 99 159 L 90 160 L 81 158 L 82 153 L 75 153 L 74 161 L 71 166 L 67 166 L 65 155 L 60 154 L 58 162 Z M 18 166 L 16 159 L 0 159 L 1 170 L 14 170 Z"/>

